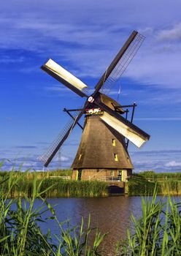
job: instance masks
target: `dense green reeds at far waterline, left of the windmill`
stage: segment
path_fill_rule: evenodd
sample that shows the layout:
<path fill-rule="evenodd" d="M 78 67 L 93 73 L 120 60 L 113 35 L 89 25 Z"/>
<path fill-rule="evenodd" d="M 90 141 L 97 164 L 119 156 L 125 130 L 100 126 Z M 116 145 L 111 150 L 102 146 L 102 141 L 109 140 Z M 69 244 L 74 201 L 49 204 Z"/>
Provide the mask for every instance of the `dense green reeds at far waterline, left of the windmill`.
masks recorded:
<path fill-rule="evenodd" d="M 4 176 L 3 184 L 1 188 L 3 189 L 5 195 L 8 191 L 8 173 Z M 13 178 L 20 178 L 23 173 L 12 173 Z M 46 192 L 42 193 L 43 197 L 99 197 L 107 196 L 107 184 L 100 181 L 66 181 L 61 178 L 39 178 L 39 173 L 36 173 L 29 178 L 28 173 L 21 179 L 18 184 L 11 189 L 9 197 L 31 197 L 34 189 L 34 179 L 36 178 L 37 186 L 39 186 L 39 192 L 43 192 L 47 187 L 50 187 Z"/>

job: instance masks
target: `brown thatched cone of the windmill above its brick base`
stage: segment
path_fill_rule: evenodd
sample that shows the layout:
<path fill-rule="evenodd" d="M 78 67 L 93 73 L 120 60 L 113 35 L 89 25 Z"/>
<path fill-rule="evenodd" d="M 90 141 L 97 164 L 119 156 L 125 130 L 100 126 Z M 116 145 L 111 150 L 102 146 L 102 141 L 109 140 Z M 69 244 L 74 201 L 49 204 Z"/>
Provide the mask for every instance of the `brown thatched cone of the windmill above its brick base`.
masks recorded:
<path fill-rule="evenodd" d="M 133 165 L 123 136 L 104 124 L 99 116 L 88 116 L 72 167 L 132 169 Z"/>

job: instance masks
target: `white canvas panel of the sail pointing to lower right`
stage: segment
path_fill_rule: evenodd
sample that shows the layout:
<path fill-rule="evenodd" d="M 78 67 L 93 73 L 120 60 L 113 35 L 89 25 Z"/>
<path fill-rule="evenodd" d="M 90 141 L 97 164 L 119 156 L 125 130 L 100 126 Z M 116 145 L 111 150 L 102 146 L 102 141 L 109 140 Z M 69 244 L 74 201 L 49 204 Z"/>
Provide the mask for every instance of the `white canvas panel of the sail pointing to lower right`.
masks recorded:
<path fill-rule="evenodd" d="M 136 132 L 134 129 L 131 129 L 131 127 L 128 127 L 126 124 L 123 124 L 123 122 L 119 121 L 114 116 L 109 115 L 105 111 L 104 114 L 100 116 L 100 118 L 110 127 L 115 129 L 121 135 L 126 137 L 132 143 L 134 143 L 134 145 L 136 145 L 138 148 L 140 148 L 142 144 L 148 140 L 147 138 L 144 138 L 142 135 L 140 135 L 139 132 Z"/>

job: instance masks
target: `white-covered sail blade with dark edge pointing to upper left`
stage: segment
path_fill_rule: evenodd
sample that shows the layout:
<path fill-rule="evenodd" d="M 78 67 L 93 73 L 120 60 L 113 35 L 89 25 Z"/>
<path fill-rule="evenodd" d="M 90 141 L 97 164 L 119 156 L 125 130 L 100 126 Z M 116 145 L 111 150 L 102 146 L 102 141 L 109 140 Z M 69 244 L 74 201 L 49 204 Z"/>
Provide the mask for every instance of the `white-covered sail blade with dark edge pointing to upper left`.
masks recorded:
<path fill-rule="evenodd" d="M 45 70 L 45 72 L 63 83 L 64 86 L 67 86 L 76 94 L 81 97 L 87 97 L 86 89 L 88 89 L 88 86 L 66 69 L 63 69 L 63 67 L 53 61 L 53 59 L 49 59 L 44 65 L 42 65 L 41 69 Z"/>

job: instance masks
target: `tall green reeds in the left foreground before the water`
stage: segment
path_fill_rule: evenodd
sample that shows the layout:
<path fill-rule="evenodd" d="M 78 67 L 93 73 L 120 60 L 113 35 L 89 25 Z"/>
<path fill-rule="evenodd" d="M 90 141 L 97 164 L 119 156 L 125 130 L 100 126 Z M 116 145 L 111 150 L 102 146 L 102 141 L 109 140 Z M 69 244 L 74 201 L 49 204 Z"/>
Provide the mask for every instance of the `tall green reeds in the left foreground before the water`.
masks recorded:
<path fill-rule="evenodd" d="M 68 227 L 64 227 L 65 223 L 58 222 L 55 210 L 42 198 L 42 195 L 53 189 L 54 184 L 45 187 L 45 183 L 43 187 L 44 180 L 38 181 L 34 175 L 34 180 L 31 181 L 31 197 L 26 196 L 23 189 L 26 189 L 27 184 L 25 187 L 22 186 L 27 173 L 28 170 L 25 173 L 15 173 L 12 170 L 0 181 L 0 255 L 101 255 L 99 246 L 104 235 L 98 230 L 95 233 L 90 228 L 90 219 L 86 227 L 83 219 L 80 227 L 70 227 L 69 222 L 66 222 Z M 15 191 L 18 197 L 8 199 Z M 20 197 L 22 193 L 23 200 Z M 42 200 L 44 206 L 35 208 L 36 199 Z M 39 227 L 39 222 L 44 222 L 42 215 L 45 211 L 50 211 L 50 219 L 58 223 L 59 234 L 56 236 L 56 244 L 53 244 L 50 231 L 43 234 Z M 91 246 L 89 236 L 94 236 Z"/>

